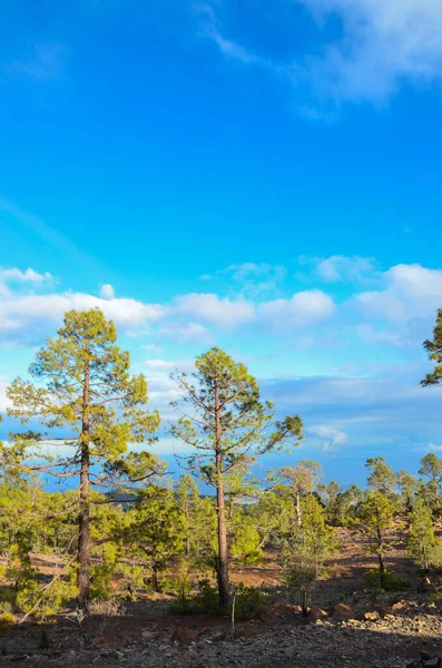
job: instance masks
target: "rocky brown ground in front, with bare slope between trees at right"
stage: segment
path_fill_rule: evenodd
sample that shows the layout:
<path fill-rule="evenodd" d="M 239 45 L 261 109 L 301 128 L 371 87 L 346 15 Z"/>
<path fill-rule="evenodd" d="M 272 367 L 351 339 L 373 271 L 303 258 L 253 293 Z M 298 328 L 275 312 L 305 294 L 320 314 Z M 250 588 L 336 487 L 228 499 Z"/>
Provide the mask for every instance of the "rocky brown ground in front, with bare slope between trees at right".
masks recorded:
<path fill-rule="evenodd" d="M 235 632 L 227 618 L 173 616 L 170 599 L 150 598 L 127 605 L 124 615 L 107 611 L 82 623 L 65 615 L 53 625 L 29 620 L 0 630 L 0 664 L 35 668 L 441 666 L 442 601 L 434 587 L 418 588 L 419 574 L 406 557 L 402 527 L 391 536 L 387 568 L 410 578 L 407 592 L 373 596 L 364 590 L 363 573 L 375 566 L 374 557 L 361 536 L 342 532 L 341 539 L 307 619 L 281 597 L 278 568 L 268 553 L 264 564 L 234 573 L 234 581 L 274 593 L 259 619 L 237 623 Z"/>

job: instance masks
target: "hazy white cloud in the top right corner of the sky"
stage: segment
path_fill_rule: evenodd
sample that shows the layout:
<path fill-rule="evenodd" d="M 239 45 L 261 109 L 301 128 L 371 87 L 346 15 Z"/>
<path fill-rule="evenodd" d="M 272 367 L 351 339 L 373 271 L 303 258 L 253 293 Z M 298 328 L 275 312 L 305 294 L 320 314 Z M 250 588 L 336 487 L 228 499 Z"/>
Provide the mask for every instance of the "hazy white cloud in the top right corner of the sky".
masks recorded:
<path fill-rule="evenodd" d="M 442 76 L 439 0 L 298 0 L 323 23 L 342 20 L 342 36 L 308 61 L 313 84 L 337 101 L 384 101 L 403 80 Z"/>

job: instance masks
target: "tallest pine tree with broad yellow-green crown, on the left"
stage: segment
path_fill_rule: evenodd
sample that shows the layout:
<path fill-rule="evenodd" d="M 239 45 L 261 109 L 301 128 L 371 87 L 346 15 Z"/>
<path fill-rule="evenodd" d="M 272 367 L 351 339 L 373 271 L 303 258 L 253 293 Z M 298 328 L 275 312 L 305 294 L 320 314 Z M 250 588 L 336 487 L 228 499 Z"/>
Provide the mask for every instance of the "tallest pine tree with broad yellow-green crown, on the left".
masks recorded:
<path fill-rule="evenodd" d="M 146 380 L 129 374 L 129 354 L 116 340 L 114 323 L 98 308 L 70 311 L 57 338 L 37 353 L 29 369 L 35 382 L 18 377 L 8 389 L 9 415 L 22 423 L 39 422 L 41 432 L 16 434 L 12 445 L 1 449 L 3 466 L 17 474 L 39 471 L 79 481 L 78 605 L 85 611 L 91 488 L 145 480 L 155 466 L 147 452 L 127 454 L 129 442 L 141 443 L 157 430 L 159 415 L 146 410 Z M 52 454 L 57 445 L 72 454 Z M 35 463 L 29 463 L 32 459 Z"/>

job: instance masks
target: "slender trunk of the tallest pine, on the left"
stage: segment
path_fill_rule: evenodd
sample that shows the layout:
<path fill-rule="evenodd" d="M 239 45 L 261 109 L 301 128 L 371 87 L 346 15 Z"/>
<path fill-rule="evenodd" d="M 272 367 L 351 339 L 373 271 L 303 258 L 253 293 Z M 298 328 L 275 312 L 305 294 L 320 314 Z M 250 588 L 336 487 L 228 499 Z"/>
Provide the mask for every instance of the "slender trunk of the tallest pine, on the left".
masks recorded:
<path fill-rule="evenodd" d="M 78 606 L 85 612 L 90 598 L 90 527 L 89 527 L 89 364 L 86 365 L 82 396 L 80 514 L 78 518 Z"/>

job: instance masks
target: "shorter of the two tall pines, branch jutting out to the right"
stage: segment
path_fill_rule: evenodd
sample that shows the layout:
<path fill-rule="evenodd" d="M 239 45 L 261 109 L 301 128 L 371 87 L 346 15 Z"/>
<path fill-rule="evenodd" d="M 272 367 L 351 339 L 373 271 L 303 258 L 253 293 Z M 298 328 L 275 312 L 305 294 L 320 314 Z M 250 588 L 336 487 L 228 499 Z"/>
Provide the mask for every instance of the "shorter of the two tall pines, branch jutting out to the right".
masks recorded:
<path fill-rule="evenodd" d="M 171 434 L 194 450 L 185 458 L 186 465 L 216 490 L 218 593 L 220 607 L 226 608 L 229 600 L 226 478 L 236 471 L 246 473 L 258 455 L 284 442 L 297 443 L 302 422 L 297 415 L 288 416 L 276 422 L 271 431 L 273 406 L 261 400 L 256 380 L 244 364 L 217 347 L 197 358 L 191 379 L 185 373 L 173 377 L 180 392 L 180 401 L 174 405 L 183 416 L 171 426 Z"/>

